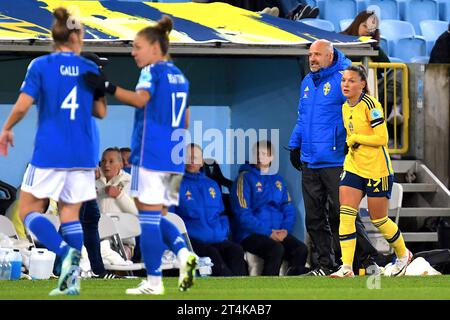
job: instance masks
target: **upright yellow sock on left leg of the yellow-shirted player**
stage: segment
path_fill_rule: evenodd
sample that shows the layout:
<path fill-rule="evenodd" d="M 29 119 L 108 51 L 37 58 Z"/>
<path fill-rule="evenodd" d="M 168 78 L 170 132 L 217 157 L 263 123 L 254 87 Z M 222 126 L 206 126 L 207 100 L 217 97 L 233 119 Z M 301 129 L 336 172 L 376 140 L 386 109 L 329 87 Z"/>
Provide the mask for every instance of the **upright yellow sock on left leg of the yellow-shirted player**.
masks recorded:
<path fill-rule="evenodd" d="M 341 206 L 339 223 L 339 240 L 342 251 L 342 264 L 353 265 L 356 248 L 356 215 L 358 211 L 349 206 Z"/>

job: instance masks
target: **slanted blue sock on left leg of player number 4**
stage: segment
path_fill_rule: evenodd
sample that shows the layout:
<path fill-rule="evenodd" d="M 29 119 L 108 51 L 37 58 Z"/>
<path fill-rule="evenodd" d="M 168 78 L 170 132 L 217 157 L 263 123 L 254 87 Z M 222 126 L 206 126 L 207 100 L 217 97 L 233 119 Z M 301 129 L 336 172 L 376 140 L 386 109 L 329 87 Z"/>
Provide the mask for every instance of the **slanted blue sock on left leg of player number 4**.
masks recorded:
<path fill-rule="evenodd" d="M 69 246 L 56 231 L 55 226 L 41 213 L 29 213 L 23 223 L 28 230 L 34 233 L 39 242 L 58 256 L 63 257 L 69 250 Z"/>

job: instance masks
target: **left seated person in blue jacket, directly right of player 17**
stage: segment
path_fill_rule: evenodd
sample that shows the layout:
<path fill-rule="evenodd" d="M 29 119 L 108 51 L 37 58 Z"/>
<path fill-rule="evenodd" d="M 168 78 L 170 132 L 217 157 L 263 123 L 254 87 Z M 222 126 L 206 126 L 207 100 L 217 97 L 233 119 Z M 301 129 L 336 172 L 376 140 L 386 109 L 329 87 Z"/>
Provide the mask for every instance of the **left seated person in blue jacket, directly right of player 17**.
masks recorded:
<path fill-rule="evenodd" d="M 200 146 L 190 144 L 187 159 L 175 213 L 186 224 L 194 252 L 200 257 L 211 258 L 213 276 L 247 275 L 244 250 L 228 240 L 230 224 L 224 215 L 220 188 L 201 171 L 203 155 Z"/>

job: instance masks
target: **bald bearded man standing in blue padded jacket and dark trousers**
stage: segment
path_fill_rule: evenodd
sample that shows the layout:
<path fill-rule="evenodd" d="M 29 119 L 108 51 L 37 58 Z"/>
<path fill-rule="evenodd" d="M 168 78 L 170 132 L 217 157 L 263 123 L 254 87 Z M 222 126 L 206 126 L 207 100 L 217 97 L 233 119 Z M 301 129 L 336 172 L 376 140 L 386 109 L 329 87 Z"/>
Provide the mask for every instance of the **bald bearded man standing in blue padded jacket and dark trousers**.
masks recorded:
<path fill-rule="evenodd" d="M 312 276 L 329 275 L 337 266 L 333 247 L 340 250 L 339 181 L 346 139 L 342 121 L 346 98 L 341 91 L 341 79 L 343 70 L 350 65 L 351 61 L 329 41 L 317 40 L 311 45 L 311 72 L 301 84 L 297 124 L 289 140 L 291 162 L 303 171 L 306 230 L 319 256 L 319 265 L 308 274 Z M 327 204 L 328 199 L 331 202 Z M 371 259 L 377 252 L 360 219 L 357 243 L 359 260 L 373 264 Z"/>

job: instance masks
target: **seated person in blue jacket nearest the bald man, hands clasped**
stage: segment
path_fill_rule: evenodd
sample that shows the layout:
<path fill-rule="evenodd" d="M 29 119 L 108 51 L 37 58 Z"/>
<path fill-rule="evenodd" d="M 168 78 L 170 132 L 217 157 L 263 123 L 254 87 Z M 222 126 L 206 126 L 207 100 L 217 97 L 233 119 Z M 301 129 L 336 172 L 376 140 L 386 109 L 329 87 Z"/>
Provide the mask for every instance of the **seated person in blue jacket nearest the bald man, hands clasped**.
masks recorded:
<path fill-rule="evenodd" d="M 291 234 L 295 209 L 286 182 L 269 172 L 273 160 L 270 141 L 257 142 L 253 152 L 257 163 L 240 167 L 230 194 L 234 239 L 245 251 L 264 260 L 262 275 L 279 275 L 283 260 L 289 263 L 288 275 L 302 274 L 308 249 Z"/>

